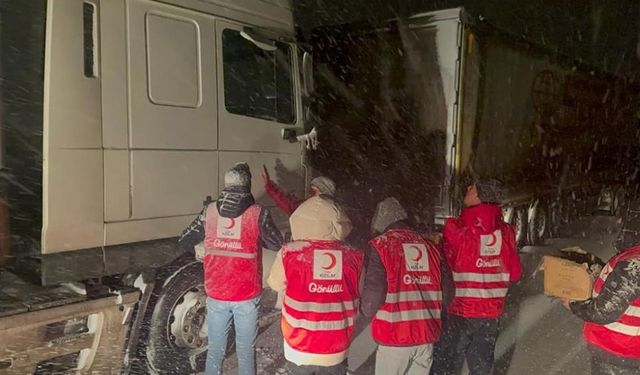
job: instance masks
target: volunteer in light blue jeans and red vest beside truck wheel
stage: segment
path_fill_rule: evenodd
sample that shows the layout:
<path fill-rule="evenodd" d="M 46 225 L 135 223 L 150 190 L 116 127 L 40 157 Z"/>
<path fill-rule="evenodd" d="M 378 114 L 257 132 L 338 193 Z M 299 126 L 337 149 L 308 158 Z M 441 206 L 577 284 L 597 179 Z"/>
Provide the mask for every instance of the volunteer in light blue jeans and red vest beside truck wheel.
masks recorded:
<path fill-rule="evenodd" d="M 193 249 L 204 240 L 209 348 L 206 375 L 222 373 L 227 335 L 233 321 L 238 373 L 254 375 L 258 303 L 262 292 L 262 248 L 278 250 L 282 235 L 266 208 L 251 195 L 251 172 L 238 163 L 224 176 L 215 202 L 183 232 L 179 245 Z"/>

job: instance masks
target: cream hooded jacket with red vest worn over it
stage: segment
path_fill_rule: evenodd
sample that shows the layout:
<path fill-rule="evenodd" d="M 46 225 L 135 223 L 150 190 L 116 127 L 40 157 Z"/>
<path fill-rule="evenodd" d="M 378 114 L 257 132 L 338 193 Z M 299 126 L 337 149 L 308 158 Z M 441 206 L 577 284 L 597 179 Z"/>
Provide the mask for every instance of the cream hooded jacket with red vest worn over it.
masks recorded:
<path fill-rule="evenodd" d="M 297 365 L 333 366 L 347 357 L 347 348 L 353 333 L 353 318 L 356 313 L 354 306 L 359 295 L 359 279 L 362 274 L 364 254 L 342 242 L 351 232 L 351 221 L 329 198 L 322 196 L 309 198 L 296 209 L 289 222 L 294 242 L 284 245 L 278 252 L 267 279 L 272 289 L 285 293 L 282 320 L 285 358 Z M 304 283 L 302 279 L 308 279 L 308 273 L 311 272 L 302 266 L 306 264 L 311 266 L 315 262 L 317 249 L 339 252 L 341 255 L 337 258 L 345 262 L 341 266 L 343 277 L 340 281 L 335 279 L 333 283 L 336 285 L 332 284 L 330 290 L 327 290 L 326 298 L 330 301 L 325 299 L 307 301 L 306 298 L 309 298 L 310 294 L 307 295 L 305 292 L 307 289 L 305 285 L 300 285 Z M 301 269 L 285 268 L 285 264 L 294 263 Z M 312 271 L 315 273 L 315 266 Z M 298 276 L 288 280 L 287 275 Z M 289 291 L 287 290 L 288 282 L 291 283 Z M 320 285 L 320 281 L 317 283 Z M 324 288 L 324 284 L 321 287 Z M 309 292 L 316 293 L 319 290 L 309 289 Z M 299 301 L 301 297 L 305 300 Z M 341 302 L 333 301 L 334 299 Z M 327 302 L 329 302 L 327 306 L 331 308 L 348 306 L 345 311 L 331 313 L 335 314 L 333 319 L 337 320 L 327 321 L 327 324 L 349 322 L 348 326 L 332 328 L 335 329 L 332 334 L 335 339 L 333 342 L 324 337 L 327 332 L 313 329 L 314 324 L 322 325 L 324 318 L 320 313 L 304 312 L 307 305 L 316 306 L 314 309 L 324 311 L 322 306 Z M 301 324 L 299 322 L 305 322 L 308 328 L 305 330 L 302 326 L 298 326 Z"/>

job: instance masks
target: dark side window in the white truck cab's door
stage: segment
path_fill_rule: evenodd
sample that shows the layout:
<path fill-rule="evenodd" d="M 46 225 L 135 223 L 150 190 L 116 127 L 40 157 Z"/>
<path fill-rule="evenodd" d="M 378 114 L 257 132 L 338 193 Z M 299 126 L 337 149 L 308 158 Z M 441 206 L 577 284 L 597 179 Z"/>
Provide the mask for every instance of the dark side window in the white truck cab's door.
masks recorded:
<path fill-rule="evenodd" d="M 276 46 L 265 51 L 237 30 L 223 31 L 224 105 L 229 113 L 295 122 L 291 48 L 280 42 Z"/>

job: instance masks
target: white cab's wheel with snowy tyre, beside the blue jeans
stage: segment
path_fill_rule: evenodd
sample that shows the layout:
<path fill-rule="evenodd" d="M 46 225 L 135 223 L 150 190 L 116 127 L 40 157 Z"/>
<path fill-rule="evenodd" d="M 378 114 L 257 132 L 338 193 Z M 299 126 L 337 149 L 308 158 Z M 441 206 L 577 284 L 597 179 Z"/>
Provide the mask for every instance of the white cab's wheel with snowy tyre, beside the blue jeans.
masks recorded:
<path fill-rule="evenodd" d="M 158 294 L 149 321 L 147 363 L 157 374 L 204 371 L 207 310 L 202 263 L 171 275 Z"/>

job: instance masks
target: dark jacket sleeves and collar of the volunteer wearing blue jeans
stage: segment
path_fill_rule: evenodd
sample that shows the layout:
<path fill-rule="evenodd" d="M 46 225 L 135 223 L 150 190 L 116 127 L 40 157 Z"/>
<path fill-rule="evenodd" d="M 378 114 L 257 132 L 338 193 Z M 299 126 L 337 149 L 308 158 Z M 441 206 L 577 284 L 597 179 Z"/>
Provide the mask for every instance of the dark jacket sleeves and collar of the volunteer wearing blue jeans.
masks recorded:
<path fill-rule="evenodd" d="M 255 203 L 255 199 L 247 188 L 230 187 L 225 188 L 214 203 L 220 216 L 235 218 L 251 207 Z M 208 205 L 205 205 L 198 217 L 180 235 L 178 246 L 181 249 L 192 251 L 195 245 L 204 240 L 207 207 Z M 262 207 L 258 223 L 260 225 L 260 244 L 262 247 L 269 250 L 279 250 L 283 242 L 282 233 L 276 228 L 271 218 L 271 213 L 267 208 Z"/>

